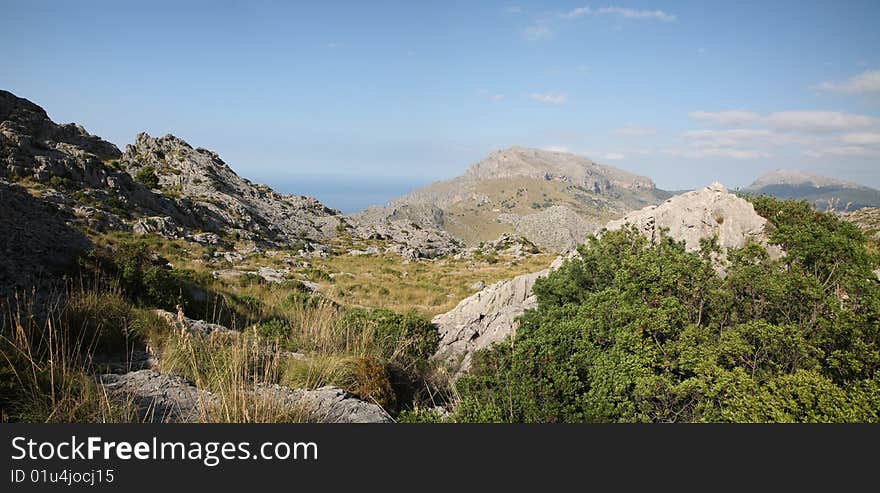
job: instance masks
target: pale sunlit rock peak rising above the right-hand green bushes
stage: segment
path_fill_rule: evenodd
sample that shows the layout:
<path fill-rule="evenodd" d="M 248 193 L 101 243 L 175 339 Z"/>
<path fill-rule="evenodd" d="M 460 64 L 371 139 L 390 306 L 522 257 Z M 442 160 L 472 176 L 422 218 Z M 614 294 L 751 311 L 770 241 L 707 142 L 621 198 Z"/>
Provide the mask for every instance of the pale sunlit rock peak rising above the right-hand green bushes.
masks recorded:
<path fill-rule="evenodd" d="M 661 232 L 666 231 L 676 241 L 684 241 L 690 252 L 700 249 L 700 240 L 713 236 L 723 249 L 742 248 L 755 242 L 778 257 L 781 250 L 767 242 L 767 224 L 749 201 L 728 192 L 724 185 L 713 183 L 676 195 L 660 205 L 631 212 L 609 222 L 605 229 L 613 231 L 632 225 L 651 240 L 659 239 Z"/>

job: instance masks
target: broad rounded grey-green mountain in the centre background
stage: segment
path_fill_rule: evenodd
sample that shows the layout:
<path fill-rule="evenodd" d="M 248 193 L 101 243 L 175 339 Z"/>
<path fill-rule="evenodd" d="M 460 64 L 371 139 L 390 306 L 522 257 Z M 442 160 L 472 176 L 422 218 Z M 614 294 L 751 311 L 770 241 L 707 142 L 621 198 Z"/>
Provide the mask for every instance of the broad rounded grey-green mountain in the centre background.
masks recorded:
<path fill-rule="evenodd" d="M 370 228 L 405 217 L 469 246 L 516 232 L 543 249 L 562 252 L 599 224 L 667 196 L 648 178 L 581 156 L 512 147 L 492 152 L 459 177 L 351 219 Z"/>

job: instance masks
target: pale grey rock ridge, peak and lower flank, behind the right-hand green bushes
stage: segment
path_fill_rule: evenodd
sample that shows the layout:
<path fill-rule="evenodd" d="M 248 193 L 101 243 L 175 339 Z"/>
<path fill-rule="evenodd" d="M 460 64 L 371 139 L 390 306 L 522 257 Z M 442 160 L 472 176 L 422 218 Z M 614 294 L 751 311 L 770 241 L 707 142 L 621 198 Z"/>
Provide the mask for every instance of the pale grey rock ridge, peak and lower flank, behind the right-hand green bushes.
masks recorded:
<path fill-rule="evenodd" d="M 739 248 L 755 241 L 768 247 L 771 254 L 781 254 L 777 247 L 767 244 L 767 220 L 748 201 L 717 183 L 627 214 L 605 228 L 613 230 L 626 225 L 635 226 L 650 239 L 659 238 L 660 231 L 668 229 L 667 234 L 684 241 L 689 251 L 699 250 L 700 239 L 717 236 L 723 248 Z M 573 255 L 576 253 L 568 254 Z M 535 281 L 561 266 L 564 260 L 565 257 L 559 257 L 548 269 L 488 286 L 451 311 L 434 317 L 432 322 L 441 336 L 434 359 L 446 367 L 452 378 L 467 371 L 474 351 L 514 334 L 516 318 L 536 306 L 532 294 Z"/>

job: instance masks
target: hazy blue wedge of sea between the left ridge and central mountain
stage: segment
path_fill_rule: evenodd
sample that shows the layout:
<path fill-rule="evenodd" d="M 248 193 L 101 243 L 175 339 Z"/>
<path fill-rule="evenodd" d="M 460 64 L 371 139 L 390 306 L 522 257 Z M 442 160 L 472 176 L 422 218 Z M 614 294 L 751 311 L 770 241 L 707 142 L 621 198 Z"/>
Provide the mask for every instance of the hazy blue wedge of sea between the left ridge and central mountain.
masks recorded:
<path fill-rule="evenodd" d="M 262 183 L 277 192 L 309 195 L 324 205 L 346 214 L 358 212 L 371 205 L 385 205 L 409 191 L 421 188 L 433 180 L 377 180 L 372 178 L 264 178 Z"/>

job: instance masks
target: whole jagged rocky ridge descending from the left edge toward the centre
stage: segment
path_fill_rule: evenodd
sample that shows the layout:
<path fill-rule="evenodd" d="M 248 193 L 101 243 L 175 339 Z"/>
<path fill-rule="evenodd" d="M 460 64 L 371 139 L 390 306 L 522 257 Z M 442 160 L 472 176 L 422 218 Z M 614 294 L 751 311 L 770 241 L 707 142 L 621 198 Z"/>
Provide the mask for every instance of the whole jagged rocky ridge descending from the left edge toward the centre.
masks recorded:
<path fill-rule="evenodd" d="M 121 153 L 7 91 L 0 91 L 0 179 L 26 183 L 38 199 L 97 231 L 229 234 L 291 247 L 320 244 L 343 221 L 313 198 L 252 184 L 216 153 L 174 136 L 142 133 Z"/>

